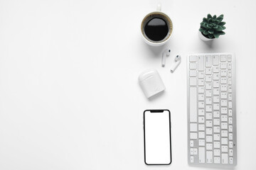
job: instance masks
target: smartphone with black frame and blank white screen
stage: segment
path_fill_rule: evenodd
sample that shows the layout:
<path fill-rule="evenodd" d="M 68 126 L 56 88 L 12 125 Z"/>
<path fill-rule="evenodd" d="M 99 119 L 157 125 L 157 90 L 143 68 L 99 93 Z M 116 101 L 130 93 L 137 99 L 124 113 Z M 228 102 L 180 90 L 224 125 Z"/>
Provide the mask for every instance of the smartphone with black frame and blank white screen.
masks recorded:
<path fill-rule="evenodd" d="M 144 111 L 144 162 L 171 164 L 171 113 L 169 110 Z"/>

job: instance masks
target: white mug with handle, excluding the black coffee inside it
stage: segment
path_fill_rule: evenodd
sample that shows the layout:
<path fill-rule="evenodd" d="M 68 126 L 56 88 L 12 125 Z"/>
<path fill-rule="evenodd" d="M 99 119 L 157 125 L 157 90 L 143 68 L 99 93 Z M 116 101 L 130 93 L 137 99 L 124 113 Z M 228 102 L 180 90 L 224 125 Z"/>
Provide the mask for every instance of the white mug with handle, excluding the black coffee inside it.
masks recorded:
<path fill-rule="evenodd" d="M 151 21 L 153 18 L 161 18 L 161 20 L 165 21 L 167 24 L 168 33 L 166 33 L 166 36 L 162 40 L 151 40 L 145 33 L 146 23 Z M 158 6 L 156 7 L 156 11 L 147 14 L 142 20 L 142 25 L 141 25 L 142 38 L 148 45 L 152 45 L 152 46 L 164 45 L 171 38 L 173 30 L 174 28 L 173 28 L 173 23 L 171 21 L 171 18 L 169 18 L 169 16 L 167 16 L 166 13 L 161 12 L 161 4 L 158 4 Z"/>

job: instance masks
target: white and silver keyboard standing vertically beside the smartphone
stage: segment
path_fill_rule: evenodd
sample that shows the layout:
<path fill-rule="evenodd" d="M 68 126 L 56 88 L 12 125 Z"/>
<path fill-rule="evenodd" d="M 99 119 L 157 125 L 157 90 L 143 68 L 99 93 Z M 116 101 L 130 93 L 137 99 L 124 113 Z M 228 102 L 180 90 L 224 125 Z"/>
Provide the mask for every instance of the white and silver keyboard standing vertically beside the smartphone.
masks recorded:
<path fill-rule="evenodd" d="M 237 164 L 235 55 L 188 55 L 188 163 Z"/>

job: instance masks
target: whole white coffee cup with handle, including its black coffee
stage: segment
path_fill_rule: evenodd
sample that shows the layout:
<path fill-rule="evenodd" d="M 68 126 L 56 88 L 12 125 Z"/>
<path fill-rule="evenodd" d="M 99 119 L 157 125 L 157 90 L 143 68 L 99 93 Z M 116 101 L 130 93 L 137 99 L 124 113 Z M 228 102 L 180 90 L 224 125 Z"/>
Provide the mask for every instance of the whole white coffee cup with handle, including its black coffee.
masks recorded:
<path fill-rule="evenodd" d="M 164 45 L 171 38 L 173 30 L 171 18 L 161 12 L 161 4 L 156 7 L 156 11 L 148 13 L 142 20 L 142 38 L 152 46 Z"/>

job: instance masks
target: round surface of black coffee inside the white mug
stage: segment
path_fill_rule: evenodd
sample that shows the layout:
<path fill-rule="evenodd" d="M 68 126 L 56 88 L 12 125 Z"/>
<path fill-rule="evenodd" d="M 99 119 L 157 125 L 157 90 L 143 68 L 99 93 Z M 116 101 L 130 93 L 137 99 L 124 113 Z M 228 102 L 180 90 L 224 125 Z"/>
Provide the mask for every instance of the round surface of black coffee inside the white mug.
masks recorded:
<path fill-rule="evenodd" d="M 160 41 L 164 40 L 169 29 L 163 18 L 155 17 L 146 23 L 144 31 L 150 40 Z"/>

